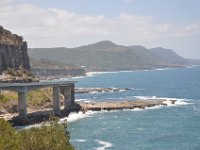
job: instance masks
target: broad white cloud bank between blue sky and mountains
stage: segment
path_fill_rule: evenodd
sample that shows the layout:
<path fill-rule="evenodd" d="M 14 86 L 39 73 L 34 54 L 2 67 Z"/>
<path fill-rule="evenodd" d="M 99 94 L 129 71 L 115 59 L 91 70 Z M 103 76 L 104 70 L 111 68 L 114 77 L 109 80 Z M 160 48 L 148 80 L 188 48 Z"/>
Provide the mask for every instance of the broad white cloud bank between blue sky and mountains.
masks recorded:
<path fill-rule="evenodd" d="M 159 23 L 152 16 L 128 13 L 109 18 L 56 8 L 43 9 L 31 4 L 17 5 L 10 1 L 0 0 L 1 25 L 24 36 L 30 47 L 74 47 L 113 40 L 125 45 L 177 48 L 179 45 L 174 41 L 184 39 L 185 42 L 188 39 L 191 42 L 189 39 L 194 37 L 200 39 L 200 22 L 186 25 Z"/>

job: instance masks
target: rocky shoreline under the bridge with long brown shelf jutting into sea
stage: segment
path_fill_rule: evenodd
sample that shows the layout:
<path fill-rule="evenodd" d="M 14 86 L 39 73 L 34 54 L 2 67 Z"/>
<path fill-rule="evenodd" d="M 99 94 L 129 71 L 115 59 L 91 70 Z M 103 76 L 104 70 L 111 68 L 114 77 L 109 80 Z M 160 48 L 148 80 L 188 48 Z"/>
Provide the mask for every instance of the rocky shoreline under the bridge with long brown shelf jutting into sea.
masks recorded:
<path fill-rule="evenodd" d="M 155 106 L 167 106 L 174 105 L 176 100 L 132 100 L 132 101 L 112 101 L 112 102 L 79 102 L 75 103 L 71 109 L 66 112 L 62 111 L 58 118 L 65 118 L 69 116 L 71 112 L 83 112 L 87 111 L 102 111 L 102 110 L 124 110 L 124 109 L 145 109 Z M 12 116 L 14 114 L 10 114 Z M 1 118 L 4 118 L 11 122 L 13 126 L 23 126 L 23 125 L 33 125 L 36 123 L 48 122 L 49 118 L 53 116 L 52 109 L 43 109 L 43 110 L 32 110 L 27 116 L 27 119 L 24 120 L 19 116 L 8 117 L 8 114 L 1 115 Z"/>

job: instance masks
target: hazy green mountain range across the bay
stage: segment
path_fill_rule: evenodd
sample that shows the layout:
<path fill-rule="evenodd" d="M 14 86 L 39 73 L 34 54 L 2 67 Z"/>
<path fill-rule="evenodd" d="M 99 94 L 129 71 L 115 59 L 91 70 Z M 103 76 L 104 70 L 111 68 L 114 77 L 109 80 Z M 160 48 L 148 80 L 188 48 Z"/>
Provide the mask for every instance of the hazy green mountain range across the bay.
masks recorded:
<path fill-rule="evenodd" d="M 181 67 L 187 60 L 164 48 L 123 46 L 111 41 L 76 48 L 31 48 L 29 55 L 37 60 L 47 59 L 65 65 L 85 66 L 92 71 L 136 70 Z"/>

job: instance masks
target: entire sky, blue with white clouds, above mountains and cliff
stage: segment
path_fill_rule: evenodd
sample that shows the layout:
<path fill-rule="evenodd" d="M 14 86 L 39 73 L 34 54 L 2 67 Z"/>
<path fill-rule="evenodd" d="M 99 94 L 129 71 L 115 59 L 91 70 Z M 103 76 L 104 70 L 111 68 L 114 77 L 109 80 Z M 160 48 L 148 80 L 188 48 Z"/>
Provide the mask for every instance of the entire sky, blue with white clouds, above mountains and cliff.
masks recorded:
<path fill-rule="evenodd" d="M 0 25 L 28 46 L 116 44 L 200 59 L 199 0 L 0 0 Z"/>

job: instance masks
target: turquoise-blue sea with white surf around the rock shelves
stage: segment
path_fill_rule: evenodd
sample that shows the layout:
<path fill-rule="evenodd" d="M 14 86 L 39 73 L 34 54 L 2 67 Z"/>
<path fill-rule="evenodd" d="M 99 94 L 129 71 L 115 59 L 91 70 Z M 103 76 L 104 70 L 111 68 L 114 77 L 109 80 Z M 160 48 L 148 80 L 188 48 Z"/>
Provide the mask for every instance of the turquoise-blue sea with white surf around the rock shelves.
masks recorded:
<path fill-rule="evenodd" d="M 77 100 L 176 99 L 146 110 L 90 112 L 69 123 L 76 150 L 200 150 L 200 67 L 115 72 L 77 79 L 78 87 L 131 88 Z"/>

